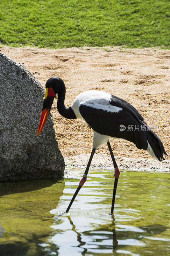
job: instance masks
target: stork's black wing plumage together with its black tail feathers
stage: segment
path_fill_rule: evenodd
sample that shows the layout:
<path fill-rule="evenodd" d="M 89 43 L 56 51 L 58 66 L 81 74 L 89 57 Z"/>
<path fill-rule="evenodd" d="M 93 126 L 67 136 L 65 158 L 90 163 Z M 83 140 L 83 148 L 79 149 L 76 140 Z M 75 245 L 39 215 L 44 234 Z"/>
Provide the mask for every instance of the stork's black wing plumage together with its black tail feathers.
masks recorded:
<path fill-rule="evenodd" d="M 117 113 L 106 110 L 92 108 L 81 104 L 79 111 L 88 125 L 96 132 L 110 137 L 122 138 L 133 142 L 139 149 L 147 149 L 148 142 L 154 151 L 155 156 L 161 161 L 163 154 L 167 155 L 162 142 L 156 134 L 145 123 L 144 118 L 127 101 L 111 95 L 109 105 L 122 108 Z M 123 124 L 126 129 L 120 131 L 120 125 Z M 133 125 L 136 130 L 128 130 L 128 126 Z M 141 127 L 145 126 L 145 130 Z M 148 141 L 148 142 L 147 142 Z"/>

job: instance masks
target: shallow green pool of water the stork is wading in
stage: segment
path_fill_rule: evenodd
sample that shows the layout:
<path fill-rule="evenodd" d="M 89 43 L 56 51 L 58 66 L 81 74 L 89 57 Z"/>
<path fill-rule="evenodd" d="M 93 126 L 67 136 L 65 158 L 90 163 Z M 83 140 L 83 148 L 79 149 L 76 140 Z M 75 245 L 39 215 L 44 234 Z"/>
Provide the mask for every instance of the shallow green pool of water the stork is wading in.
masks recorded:
<path fill-rule="evenodd" d="M 169 174 L 122 171 L 109 215 L 113 172 L 84 170 L 64 180 L 0 183 L 0 256 L 169 256 Z"/>

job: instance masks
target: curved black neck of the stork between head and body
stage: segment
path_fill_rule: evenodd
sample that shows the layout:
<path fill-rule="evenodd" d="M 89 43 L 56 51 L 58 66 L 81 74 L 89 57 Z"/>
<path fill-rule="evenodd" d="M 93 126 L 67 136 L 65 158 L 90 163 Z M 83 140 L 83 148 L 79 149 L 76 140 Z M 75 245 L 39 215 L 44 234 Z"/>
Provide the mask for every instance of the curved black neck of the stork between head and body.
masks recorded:
<path fill-rule="evenodd" d="M 58 92 L 58 100 L 57 100 L 57 109 L 60 113 L 61 116 L 64 116 L 68 119 L 72 118 L 77 118 L 74 114 L 74 111 L 71 107 L 66 108 L 64 105 L 64 100 L 65 100 L 65 94 L 66 94 L 66 89 L 63 88 L 61 92 Z"/>

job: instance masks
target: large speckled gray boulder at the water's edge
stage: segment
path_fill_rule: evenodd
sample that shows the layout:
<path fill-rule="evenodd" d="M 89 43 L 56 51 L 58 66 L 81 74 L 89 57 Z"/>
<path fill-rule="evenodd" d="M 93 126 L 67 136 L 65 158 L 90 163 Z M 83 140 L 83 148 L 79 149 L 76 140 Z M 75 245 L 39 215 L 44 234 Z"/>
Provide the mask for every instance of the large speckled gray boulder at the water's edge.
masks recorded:
<path fill-rule="evenodd" d="M 0 181 L 63 176 L 51 114 L 37 138 L 44 93 L 24 66 L 0 53 Z"/>

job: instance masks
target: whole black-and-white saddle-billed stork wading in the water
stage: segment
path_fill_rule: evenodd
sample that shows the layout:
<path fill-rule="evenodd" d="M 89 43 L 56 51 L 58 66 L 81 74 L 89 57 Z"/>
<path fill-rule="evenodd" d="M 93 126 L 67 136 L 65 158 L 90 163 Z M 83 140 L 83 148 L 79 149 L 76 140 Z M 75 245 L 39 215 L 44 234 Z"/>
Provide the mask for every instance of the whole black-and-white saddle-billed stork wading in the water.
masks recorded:
<path fill-rule="evenodd" d="M 37 136 L 43 129 L 54 98 L 57 98 L 57 109 L 61 116 L 68 119 L 83 118 L 84 121 L 93 129 L 93 149 L 83 178 L 80 180 L 79 186 L 66 210 L 69 211 L 74 198 L 78 194 L 80 188 L 87 179 L 89 167 L 95 153 L 103 143 L 107 143 L 110 155 L 115 168 L 115 182 L 113 189 L 113 199 L 111 214 L 114 209 L 116 196 L 117 181 L 120 171 L 117 167 L 109 139 L 122 138 L 133 142 L 137 148 L 147 150 L 151 156 L 158 161 L 164 160 L 163 154 L 167 155 L 162 142 L 156 134 L 145 123 L 144 118 L 138 111 L 128 102 L 107 92 L 101 91 L 85 91 L 81 92 L 74 100 L 71 107 L 66 108 L 64 105 L 66 87 L 62 79 L 59 77 L 51 77 L 46 82 L 46 93 L 44 96 L 43 109 L 39 121 Z M 128 129 L 133 127 L 134 129 Z"/>

